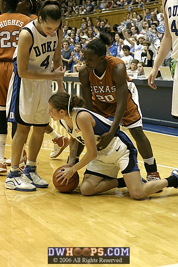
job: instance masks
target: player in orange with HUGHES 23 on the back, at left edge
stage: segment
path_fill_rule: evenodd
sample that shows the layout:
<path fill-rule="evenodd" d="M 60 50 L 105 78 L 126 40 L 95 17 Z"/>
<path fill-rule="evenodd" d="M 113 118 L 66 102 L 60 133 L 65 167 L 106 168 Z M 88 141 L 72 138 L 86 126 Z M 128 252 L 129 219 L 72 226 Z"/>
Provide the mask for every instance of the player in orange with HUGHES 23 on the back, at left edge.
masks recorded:
<path fill-rule="evenodd" d="M 0 175 L 7 175 L 4 159 L 8 133 L 6 99 L 13 70 L 12 58 L 17 47 L 19 29 L 30 21 L 29 17 L 16 13 L 17 4 L 18 0 L 0 1 Z"/>

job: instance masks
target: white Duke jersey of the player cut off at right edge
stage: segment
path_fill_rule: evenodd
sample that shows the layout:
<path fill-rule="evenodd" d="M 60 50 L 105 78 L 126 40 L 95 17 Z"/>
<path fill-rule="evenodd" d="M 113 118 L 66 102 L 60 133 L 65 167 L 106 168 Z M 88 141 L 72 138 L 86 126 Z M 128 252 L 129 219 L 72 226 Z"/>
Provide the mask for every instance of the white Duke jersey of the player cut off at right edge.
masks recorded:
<path fill-rule="evenodd" d="M 166 0 L 164 4 L 165 12 L 168 19 L 169 32 L 172 38 L 172 54 L 171 57 L 178 59 L 178 5 L 175 0 Z"/>

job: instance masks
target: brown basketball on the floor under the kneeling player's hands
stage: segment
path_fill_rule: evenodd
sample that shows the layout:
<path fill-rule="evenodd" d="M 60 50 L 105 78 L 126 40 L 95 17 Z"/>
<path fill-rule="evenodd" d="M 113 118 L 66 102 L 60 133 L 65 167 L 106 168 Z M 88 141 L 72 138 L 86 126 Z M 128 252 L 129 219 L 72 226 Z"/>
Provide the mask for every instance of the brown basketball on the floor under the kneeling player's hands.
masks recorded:
<path fill-rule="evenodd" d="M 61 170 L 61 167 L 60 168 L 57 168 L 54 171 L 54 173 L 53 173 L 52 182 L 53 182 L 53 185 L 55 186 L 55 188 L 58 191 L 62 192 L 62 193 L 69 193 L 69 192 L 72 192 L 73 190 L 75 190 L 75 188 L 79 184 L 79 175 L 78 175 L 78 172 L 76 171 L 73 174 L 73 176 L 69 180 L 68 185 L 66 185 L 66 184 L 61 185 L 61 183 L 62 183 L 63 180 L 60 180 L 59 182 L 57 182 L 56 180 L 58 179 L 58 177 L 57 178 L 55 177 L 60 171 L 62 171 Z"/>

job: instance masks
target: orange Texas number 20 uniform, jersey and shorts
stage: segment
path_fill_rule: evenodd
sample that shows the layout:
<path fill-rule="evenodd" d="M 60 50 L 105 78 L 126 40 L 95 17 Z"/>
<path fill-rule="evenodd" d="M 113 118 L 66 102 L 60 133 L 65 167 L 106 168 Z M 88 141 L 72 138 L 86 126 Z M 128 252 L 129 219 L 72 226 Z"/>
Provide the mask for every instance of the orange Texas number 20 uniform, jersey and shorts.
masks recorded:
<path fill-rule="evenodd" d="M 107 67 L 101 77 L 95 74 L 95 71 L 89 71 L 89 81 L 92 90 L 92 101 L 94 111 L 104 117 L 114 116 L 116 110 L 115 82 L 112 79 L 112 71 L 117 64 L 125 63 L 114 57 L 106 56 Z M 133 101 L 132 92 L 136 93 L 137 89 L 132 80 L 127 76 L 128 93 L 126 101 L 126 111 L 123 116 L 123 125 L 129 126 L 141 119 L 139 103 Z"/>

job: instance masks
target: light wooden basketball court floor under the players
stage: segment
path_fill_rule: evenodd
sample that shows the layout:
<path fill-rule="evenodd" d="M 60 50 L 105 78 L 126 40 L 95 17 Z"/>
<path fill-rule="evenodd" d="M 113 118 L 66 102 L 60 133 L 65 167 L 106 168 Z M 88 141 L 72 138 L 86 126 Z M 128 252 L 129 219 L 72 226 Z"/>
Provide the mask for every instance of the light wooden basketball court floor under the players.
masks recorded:
<path fill-rule="evenodd" d="M 51 122 L 51 126 L 59 133 L 65 133 L 56 122 Z M 9 125 L 7 158 L 11 154 L 10 135 Z M 150 132 L 146 135 L 164 179 L 178 167 L 178 139 Z M 2 267 L 47 266 L 48 247 L 130 247 L 130 264 L 122 266 L 156 267 L 178 262 L 177 189 L 166 188 L 140 201 L 131 199 L 127 188 L 84 197 L 78 186 L 74 192 L 63 194 L 54 188 L 52 173 L 66 162 L 69 149 L 67 147 L 60 157 L 51 160 L 52 148 L 53 143 L 45 134 L 38 157 L 38 173 L 49 183 L 47 189 L 36 192 L 8 190 L 4 186 L 6 177 L 0 177 Z M 142 158 L 138 156 L 138 160 L 145 177 Z M 79 171 L 80 184 L 83 172 L 84 168 Z"/>

